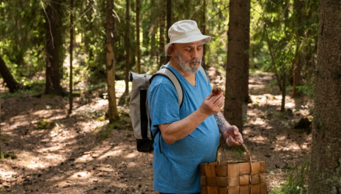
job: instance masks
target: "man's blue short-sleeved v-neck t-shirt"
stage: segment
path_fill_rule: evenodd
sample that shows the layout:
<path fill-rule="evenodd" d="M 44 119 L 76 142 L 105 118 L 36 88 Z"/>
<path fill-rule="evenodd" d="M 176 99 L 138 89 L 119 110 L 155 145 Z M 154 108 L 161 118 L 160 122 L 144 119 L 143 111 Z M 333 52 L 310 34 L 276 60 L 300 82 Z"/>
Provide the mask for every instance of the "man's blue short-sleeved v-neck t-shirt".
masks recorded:
<path fill-rule="evenodd" d="M 180 108 L 178 94 L 171 81 L 164 76 L 155 77 L 148 91 L 153 133 L 158 125 L 176 122 L 197 110 L 212 90 L 201 71 L 196 72 L 196 86 L 193 86 L 176 69 L 168 64 L 166 67 L 180 81 L 183 104 Z M 192 133 L 172 144 L 167 144 L 162 135 L 159 139 L 159 135 L 154 140 L 154 189 L 167 193 L 200 192 L 199 164 L 214 161 L 219 144 L 214 116 L 209 116 Z"/>

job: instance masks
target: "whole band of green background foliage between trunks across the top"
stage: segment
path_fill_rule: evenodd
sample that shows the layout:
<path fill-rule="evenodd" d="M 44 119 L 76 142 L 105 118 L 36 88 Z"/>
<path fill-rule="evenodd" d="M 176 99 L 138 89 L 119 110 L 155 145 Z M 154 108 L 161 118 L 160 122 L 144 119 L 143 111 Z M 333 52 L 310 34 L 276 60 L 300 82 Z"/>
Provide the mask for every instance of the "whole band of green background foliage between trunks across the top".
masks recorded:
<path fill-rule="evenodd" d="M 193 19 L 199 28 L 204 25 L 205 34 L 212 37 L 205 45 L 206 65 L 224 72 L 227 58 L 227 31 L 229 25 L 228 0 L 172 1 L 172 23 L 181 19 Z M 318 1 L 300 1 L 297 5 L 290 1 L 251 1 L 250 20 L 250 68 L 273 71 L 270 56 L 271 45 L 277 71 L 291 74 L 294 59 L 302 59 L 302 76 L 304 85 L 313 87 L 313 74 L 316 63 L 317 30 L 318 30 Z M 45 36 L 47 21 L 43 6 L 46 8 L 50 1 L 34 0 L 5 0 L 0 3 L 0 55 L 6 62 L 14 78 L 25 87 L 20 94 L 38 94 L 43 91 L 43 84 L 29 83 L 45 82 Z M 75 88 L 87 84 L 100 84 L 106 81 L 106 47 L 105 47 L 105 1 L 76 1 L 74 14 L 74 69 L 72 74 Z M 301 9 L 294 9 L 301 6 Z M 69 14 L 68 2 L 60 4 L 62 12 L 62 56 L 64 62 L 62 86 L 69 85 L 69 69 L 66 60 L 66 50 L 69 44 Z M 140 50 L 141 71 L 152 74 L 158 69 L 163 48 L 160 48 L 161 11 L 165 3 L 161 0 L 142 1 L 140 5 Z M 38 11 L 37 11 L 38 10 Z M 136 10 L 135 2 L 130 5 L 130 69 L 136 71 Z M 126 1 L 115 0 L 113 15 L 115 16 L 114 55 L 115 76 L 123 80 L 126 72 Z M 166 20 L 165 20 L 166 21 Z M 167 29 L 161 32 L 166 40 Z M 269 39 L 269 44 L 267 43 Z M 165 42 L 166 43 L 166 42 Z M 288 82 L 291 78 L 288 79 Z M 32 85 L 32 86 L 31 86 Z M 35 87 L 37 86 L 37 87 Z M 33 91 L 28 91 L 33 90 Z M 307 90 L 308 91 L 308 90 Z M 13 94 L 18 95 L 18 93 Z M 309 95 L 309 92 L 307 92 Z"/>

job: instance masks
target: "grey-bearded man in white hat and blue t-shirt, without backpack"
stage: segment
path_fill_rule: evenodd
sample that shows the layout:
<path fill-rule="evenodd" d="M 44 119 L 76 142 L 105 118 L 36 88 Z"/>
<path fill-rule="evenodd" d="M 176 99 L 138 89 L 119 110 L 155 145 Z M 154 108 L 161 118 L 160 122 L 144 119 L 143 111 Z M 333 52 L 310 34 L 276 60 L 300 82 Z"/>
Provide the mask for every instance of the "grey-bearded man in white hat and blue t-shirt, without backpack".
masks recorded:
<path fill-rule="evenodd" d="M 160 193 L 199 193 L 199 164 L 215 160 L 219 132 L 229 146 L 239 145 L 233 138 L 242 142 L 242 136 L 220 112 L 223 93 L 213 95 L 206 75 L 198 71 L 203 45 L 211 37 L 202 35 L 193 20 L 174 23 L 168 36 L 165 52 L 171 61 L 165 67 L 176 75 L 184 95 L 180 107 L 176 89 L 166 77 L 157 76 L 150 85 L 151 128 L 161 132 L 154 140 L 153 186 Z"/>

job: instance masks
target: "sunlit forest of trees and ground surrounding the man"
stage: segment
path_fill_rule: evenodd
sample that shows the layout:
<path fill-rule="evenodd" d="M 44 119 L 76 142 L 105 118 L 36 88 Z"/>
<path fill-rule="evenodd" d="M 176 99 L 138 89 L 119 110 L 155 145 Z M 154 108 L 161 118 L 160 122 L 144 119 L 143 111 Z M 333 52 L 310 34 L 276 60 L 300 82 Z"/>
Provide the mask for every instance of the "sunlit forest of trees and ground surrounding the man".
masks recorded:
<path fill-rule="evenodd" d="M 184 19 L 211 36 L 201 65 L 267 192 L 340 193 L 338 0 L 0 0 L 0 193 L 158 193 L 129 74 L 166 64 Z"/>

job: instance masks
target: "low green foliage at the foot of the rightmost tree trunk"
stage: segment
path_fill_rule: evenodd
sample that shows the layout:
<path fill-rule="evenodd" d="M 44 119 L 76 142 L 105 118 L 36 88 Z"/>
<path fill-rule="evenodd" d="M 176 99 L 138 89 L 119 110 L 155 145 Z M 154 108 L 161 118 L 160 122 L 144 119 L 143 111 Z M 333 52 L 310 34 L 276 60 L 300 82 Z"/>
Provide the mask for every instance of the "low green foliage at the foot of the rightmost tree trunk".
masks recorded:
<path fill-rule="evenodd" d="M 307 193 L 306 179 L 309 173 L 309 159 L 301 166 L 294 166 L 286 178 L 284 184 L 279 189 L 272 189 L 269 194 L 304 194 Z"/>

